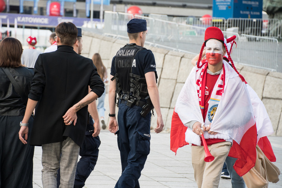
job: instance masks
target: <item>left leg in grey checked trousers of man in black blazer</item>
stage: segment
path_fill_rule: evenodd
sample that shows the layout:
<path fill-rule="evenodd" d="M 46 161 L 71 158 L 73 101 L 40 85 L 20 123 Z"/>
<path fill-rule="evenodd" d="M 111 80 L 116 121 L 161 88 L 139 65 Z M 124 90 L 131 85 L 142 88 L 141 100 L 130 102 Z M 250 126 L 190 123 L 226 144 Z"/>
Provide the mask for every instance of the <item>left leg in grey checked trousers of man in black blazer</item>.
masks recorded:
<path fill-rule="evenodd" d="M 60 167 L 62 142 L 42 144 L 42 185 L 43 188 L 57 187 L 57 170 Z"/>

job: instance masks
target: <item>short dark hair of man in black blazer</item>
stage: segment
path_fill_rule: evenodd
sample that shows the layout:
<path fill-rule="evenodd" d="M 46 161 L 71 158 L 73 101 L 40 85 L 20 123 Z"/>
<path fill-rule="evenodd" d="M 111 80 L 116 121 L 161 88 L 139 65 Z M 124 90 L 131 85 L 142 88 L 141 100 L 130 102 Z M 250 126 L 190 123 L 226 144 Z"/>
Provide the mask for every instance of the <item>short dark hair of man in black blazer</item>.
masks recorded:
<path fill-rule="evenodd" d="M 77 27 L 71 22 L 60 23 L 55 32 L 64 45 L 73 46 L 77 41 Z"/>

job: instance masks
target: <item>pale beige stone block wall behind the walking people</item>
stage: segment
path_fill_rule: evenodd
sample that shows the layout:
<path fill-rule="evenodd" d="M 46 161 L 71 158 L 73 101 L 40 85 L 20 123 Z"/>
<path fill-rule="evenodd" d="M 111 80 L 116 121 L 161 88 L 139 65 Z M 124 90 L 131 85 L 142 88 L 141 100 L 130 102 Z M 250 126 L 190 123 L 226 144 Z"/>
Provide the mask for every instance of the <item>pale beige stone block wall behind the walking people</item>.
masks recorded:
<path fill-rule="evenodd" d="M 104 65 L 107 67 L 108 73 L 110 73 L 113 56 L 121 47 L 128 43 L 128 40 L 114 39 L 87 31 L 83 31 L 82 35 L 82 55 L 92 58 L 93 54 L 99 53 Z M 193 68 L 191 59 L 194 55 L 148 45 L 145 45 L 145 48 L 152 50 L 154 53 L 158 74 L 160 106 L 165 124 L 164 131 L 169 132 L 173 109 L 179 92 Z M 275 132 L 272 135 L 282 136 L 282 73 L 256 69 L 241 64 L 235 64 L 235 67 L 264 103 Z M 105 120 L 107 121 L 107 114 L 109 113 L 107 95 L 105 108 Z M 152 129 L 156 127 L 156 116 L 152 118 L 151 127 Z"/>

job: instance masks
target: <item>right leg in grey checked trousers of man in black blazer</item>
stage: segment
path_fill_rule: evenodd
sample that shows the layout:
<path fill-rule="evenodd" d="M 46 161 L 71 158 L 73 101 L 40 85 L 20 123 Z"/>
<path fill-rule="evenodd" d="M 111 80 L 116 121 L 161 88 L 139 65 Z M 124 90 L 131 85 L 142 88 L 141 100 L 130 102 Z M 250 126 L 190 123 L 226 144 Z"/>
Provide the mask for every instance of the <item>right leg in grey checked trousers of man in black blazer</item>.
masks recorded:
<path fill-rule="evenodd" d="M 67 137 L 62 142 L 62 155 L 60 158 L 60 188 L 73 188 L 75 184 L 79 146 Z"/>

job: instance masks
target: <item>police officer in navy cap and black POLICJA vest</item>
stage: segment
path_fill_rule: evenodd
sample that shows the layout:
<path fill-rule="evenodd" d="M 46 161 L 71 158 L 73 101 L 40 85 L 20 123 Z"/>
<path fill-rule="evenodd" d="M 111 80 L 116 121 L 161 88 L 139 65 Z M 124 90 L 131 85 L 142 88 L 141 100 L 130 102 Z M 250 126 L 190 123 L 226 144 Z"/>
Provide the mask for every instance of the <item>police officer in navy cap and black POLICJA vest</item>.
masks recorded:
<path fill-rule="evenodd" d="M 150 153 L 151 109 L 157 114 L 155 133 L 164 127 L 156 85 L 154 54 L 143 48 L 146 20 L 128 22 L 129 44 L 112 60 L 109 88 L 109 131 L 118 135 L 122 175 L 115 188 L 140 188 L 138 179 Z M 115 115 L 116 91 L 118 122 Z"/>

